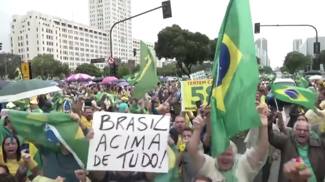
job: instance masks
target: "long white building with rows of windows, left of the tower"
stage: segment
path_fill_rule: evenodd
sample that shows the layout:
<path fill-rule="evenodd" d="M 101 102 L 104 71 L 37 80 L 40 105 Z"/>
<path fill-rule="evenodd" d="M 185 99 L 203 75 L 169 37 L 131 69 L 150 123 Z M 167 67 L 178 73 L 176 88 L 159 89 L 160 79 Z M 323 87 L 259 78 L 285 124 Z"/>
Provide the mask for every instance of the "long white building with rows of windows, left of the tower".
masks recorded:
<path fill-rule="evenodd" d="M 13 15 L 10 29 L 11 52 L 25 62 L 49 53 L 73 71 L 80 64 L 90 63 L 90 59 L 109 57 L 108 32 L 88 25 L 29 11 Z M 96 66 L 103 69 L 106 64 Z"/>

